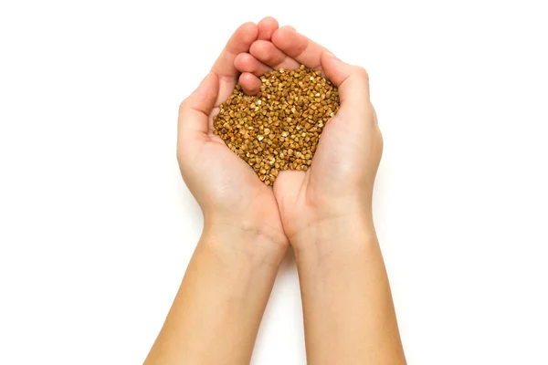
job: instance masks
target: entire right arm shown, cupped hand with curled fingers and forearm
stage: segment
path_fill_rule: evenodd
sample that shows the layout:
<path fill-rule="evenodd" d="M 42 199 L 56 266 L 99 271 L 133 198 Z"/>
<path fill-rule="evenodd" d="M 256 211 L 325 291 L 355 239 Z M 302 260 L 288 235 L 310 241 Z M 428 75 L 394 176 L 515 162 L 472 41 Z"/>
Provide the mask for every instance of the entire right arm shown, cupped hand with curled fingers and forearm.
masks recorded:
<path fill-rule="evenodd" d="M 303 64 L 321 69 L 339 87 L 341 110 L 324 128 L 311 168 L 281 172 L 274 184 L 297 257 L 309 363 L 405 364 L 374 232 L 372 198 L 383 139 L 367 72 L 286 26 L 238 57 L 248 63 L 237 68 L 254 78 L 266 68 Z M 240 81 L 248 93 L 256 91 L 250 76 Z"/>

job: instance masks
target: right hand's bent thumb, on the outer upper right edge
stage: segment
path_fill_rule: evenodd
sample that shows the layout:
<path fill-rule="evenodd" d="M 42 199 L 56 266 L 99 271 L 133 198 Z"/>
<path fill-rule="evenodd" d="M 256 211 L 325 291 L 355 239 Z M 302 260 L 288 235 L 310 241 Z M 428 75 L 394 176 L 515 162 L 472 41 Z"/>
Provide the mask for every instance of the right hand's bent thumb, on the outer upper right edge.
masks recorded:
<path fill-rule="evenodd" d="M 321 68 L 325 76 L 339 89 L 341 108 L 368 108 L 369 76 L 364 68 L 344 63 L 331 52 L 321 54 Z"/>

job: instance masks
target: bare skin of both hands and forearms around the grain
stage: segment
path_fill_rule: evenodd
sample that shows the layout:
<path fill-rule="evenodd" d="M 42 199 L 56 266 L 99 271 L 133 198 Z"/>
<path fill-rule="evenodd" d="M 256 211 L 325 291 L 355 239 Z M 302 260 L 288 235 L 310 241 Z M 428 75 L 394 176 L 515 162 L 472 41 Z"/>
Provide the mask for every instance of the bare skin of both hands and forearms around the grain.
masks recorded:
<path fill-rule="evenodd" d="M 319 68 L 339 87 L 308 172 L 274 188 L 212 134 L 238 81 L 248 94 L 272 69 Z M 179 113 L 177 156 L 205 228 L 145 364 L 244 364 L 276 272 L 292 245 L 311 364 L 405 364 L 372 197 L 383 140 L 363 68 L 267 17 L 240 26 Z"/>

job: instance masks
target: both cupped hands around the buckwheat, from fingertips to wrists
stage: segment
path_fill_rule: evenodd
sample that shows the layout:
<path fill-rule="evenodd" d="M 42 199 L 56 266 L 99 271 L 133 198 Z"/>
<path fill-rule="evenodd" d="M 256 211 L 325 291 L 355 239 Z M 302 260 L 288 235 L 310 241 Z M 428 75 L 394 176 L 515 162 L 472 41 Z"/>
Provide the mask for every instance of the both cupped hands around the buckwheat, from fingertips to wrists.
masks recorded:
<path fill-rule="evenodd" d="M 257 94 L 259 77 L 300 64 L 320 69 L 339 88 L 341 108 L 323 129 L 307 172 L 283 171 L 273 187 L 213 134 L 213 117 L 236 84 Z M 374 179 L 383 140 L 364 68 L 342 62 L 291 26 L 267 17 L 245 23 L 179 110 L 177 158 L 184 182 L 204 214 L 205 229 L 235 229 L 266 237 L 258 249 L 285 252 L 307 242 L 322 224 L 372 223 Z M 243 249 L 252 249 L 246 247 Z"/>

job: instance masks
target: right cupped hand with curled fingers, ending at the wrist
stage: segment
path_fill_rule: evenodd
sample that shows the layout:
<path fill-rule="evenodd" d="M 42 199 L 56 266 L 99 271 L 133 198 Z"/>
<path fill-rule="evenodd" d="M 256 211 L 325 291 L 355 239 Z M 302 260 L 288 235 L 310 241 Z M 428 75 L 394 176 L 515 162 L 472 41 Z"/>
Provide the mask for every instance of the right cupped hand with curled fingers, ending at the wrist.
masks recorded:
<path fill-rule="evenodd" d="M 318 238 L 332 226 L 342 232 L 352 230 L 355 222 L 361 226 L 365 222 L 373 229 L 372 195 L 383 139 L 364 68 L 342 62 L 289 26 L 275 30 L 269 40 L 256 40 L 236 61 L 242 72 L 240 83 L 248 93 L 258 91 L 257 76 L 269 69 L 294 69 L 300 64 L 321 69 L 339 88 L 341 109 L 324 127 L 311 168 L 280 172 L 274 183 L 291 245 L 300 250 L 310 234 Z"/>

